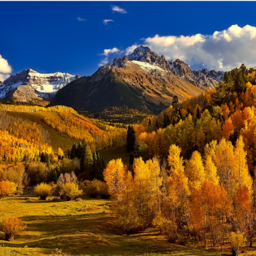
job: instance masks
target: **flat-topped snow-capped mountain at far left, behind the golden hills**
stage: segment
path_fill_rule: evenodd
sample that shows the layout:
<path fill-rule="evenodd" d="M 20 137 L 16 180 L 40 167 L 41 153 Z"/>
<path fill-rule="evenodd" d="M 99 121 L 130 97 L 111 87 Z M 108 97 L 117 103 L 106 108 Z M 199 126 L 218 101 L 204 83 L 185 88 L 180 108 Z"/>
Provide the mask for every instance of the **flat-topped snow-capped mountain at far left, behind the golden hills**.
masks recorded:
<path fill-rule="evenodd" d="M 19 102 L 42 102 L 47 104 L 58 90 L 76 80 L 79 76 L 56 72 L 40 74 L 35 70 L 23 70 L 8 77 L 0 84 L 0 99 Z M 26 95 L 26 96 L 25 96 Z"/>

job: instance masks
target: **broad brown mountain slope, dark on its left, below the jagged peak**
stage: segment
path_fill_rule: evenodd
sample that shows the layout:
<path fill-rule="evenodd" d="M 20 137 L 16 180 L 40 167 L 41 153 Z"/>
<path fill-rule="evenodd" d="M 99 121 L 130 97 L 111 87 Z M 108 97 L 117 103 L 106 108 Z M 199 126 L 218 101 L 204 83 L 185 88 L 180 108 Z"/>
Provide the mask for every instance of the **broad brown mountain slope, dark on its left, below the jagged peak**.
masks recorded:
<path fill-rule="evenodd" d="M 56 93 L 51 106 L 70 106 L 113 120 L 138 112 L 156 114 L 172 104 L 173 95 L 183 100 L 207 91 L 177 76 L 164 56 L 146 52 L 140 59 L 129 58 L 116 58 L 91 77 L 67 84 Z"/>

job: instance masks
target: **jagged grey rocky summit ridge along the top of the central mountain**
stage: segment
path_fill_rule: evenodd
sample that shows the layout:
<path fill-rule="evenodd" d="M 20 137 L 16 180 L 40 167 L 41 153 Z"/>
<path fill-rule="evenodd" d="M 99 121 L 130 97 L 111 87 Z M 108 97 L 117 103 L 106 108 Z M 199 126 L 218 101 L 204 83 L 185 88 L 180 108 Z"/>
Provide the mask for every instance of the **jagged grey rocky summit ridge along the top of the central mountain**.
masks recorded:
<path fill-rule="evenodd" d="M 208 71 L 207 69 L 203 69 L 192 71 L 184 61 L 179 59 L 166 61 L 164 56 L 159 56 L 147 46 L 142 45 L 129 54 L 127 58 L 132 61 L 150 63 L 151 65 L 161 67 L 163 70 L 171 72 L 198 87 L 216 87 L 224 75 L 224 72 L 216 72 L 215 70 Z"/>

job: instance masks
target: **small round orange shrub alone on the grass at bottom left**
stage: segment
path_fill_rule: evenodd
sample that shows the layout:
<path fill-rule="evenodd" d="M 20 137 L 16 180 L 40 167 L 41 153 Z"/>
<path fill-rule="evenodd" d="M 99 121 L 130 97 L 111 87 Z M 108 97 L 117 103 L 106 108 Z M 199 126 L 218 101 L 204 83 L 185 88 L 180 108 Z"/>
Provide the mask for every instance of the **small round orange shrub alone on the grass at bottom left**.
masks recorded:
<path fill-rule="evenodd" d="M 0 227 L 5 234 L 5 239 L 12 241 L 19 232 L 26 228 L 26 225 L 17 217 L 6 216 Z"/>

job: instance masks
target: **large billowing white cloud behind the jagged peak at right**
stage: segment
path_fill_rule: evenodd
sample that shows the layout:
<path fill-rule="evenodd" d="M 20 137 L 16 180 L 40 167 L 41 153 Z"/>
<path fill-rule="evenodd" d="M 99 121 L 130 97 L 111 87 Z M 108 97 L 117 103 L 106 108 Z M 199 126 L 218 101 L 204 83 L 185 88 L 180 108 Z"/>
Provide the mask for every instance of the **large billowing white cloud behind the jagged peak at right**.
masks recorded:
<path fill-rule="evenodd" d="M 240 28 L 232 25 L 212 35 L 159 36 L 144 39 L 144 45 L 167 60 L 180 59 L 191 69 L 209 68 L 231 70 L 244 63 L 246 67 L 256 65 L 256 27 L 246 25 Z M 137 45 L 127 47 L 131 52 Z"/>

